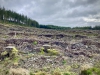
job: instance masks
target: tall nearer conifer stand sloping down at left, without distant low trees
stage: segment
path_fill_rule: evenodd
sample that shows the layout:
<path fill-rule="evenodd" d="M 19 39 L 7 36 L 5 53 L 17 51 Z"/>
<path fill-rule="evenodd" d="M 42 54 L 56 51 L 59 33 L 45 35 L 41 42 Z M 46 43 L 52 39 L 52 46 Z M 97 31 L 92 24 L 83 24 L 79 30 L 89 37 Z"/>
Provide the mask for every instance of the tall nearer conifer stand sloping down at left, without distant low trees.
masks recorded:
<path fill-rule="evenodd" d="M 4 7 L 3 8 L 0 7 L 0 20 L 2 22 L 39 27 L 37 21 L 32 20 L 22 14 L 18 14 L 14 11 L 6 10 Z"/>

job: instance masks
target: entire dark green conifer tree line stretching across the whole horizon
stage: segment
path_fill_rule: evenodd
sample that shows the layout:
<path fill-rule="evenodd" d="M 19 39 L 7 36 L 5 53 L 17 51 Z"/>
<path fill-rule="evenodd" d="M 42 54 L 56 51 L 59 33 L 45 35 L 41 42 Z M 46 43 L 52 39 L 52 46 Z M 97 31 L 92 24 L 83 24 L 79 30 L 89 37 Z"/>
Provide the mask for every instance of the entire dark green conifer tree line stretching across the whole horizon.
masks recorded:
<path fill-rule="evenodd" d="M 18 14 L 11 10 L 6 10 L 4 7 L 0 7 L 0 21 L 6 23 L 14 23 L 16 25 L 24 25 L 30 27 L 44 28 L 44 29 L 56 29 L 56 30 L 68 30 L 68 29 L 87 29 L 87 30 L 100 30 L 100 26 L 86 26 L 86 27 L 61 27 L 56 25 L 41 25 L 37 21 L 28 18 L 25 15 Z"/>

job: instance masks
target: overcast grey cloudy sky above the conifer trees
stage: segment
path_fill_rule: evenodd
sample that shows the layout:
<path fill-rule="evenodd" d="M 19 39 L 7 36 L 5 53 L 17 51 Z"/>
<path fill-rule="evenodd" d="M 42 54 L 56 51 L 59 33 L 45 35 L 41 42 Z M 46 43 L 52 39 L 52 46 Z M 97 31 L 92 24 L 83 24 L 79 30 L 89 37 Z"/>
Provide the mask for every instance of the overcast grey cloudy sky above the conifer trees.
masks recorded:
<path fill-rule="evenodd" d="M 100 0 L 0 0 L 0 6 L 27 15 L 39 24 L 100 25 Z"/>

